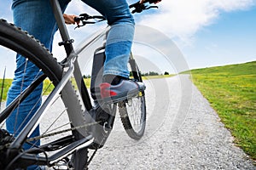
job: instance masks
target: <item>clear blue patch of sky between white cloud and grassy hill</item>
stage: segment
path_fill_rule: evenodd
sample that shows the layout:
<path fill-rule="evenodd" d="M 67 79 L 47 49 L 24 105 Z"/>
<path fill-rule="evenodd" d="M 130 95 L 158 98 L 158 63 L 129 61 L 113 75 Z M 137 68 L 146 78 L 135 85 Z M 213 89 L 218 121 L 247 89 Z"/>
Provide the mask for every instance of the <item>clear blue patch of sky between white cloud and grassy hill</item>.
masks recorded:
<path fill-rule="evenodd" d="M 221 14 L 183 48 L 190 67 L 227 65 L 256 60 L 256 8 Z M 256 69 L 256 68 L 255 68 Z"/>

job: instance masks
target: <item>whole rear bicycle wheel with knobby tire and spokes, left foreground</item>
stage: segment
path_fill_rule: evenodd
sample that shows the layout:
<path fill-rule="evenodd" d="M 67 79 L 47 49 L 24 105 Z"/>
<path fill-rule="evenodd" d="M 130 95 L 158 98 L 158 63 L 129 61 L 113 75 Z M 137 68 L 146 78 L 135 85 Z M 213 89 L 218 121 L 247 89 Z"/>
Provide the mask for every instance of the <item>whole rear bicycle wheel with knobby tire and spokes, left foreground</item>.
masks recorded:
<path fill-rule="evenodd" d="M 7 106 L 0 113 L 0 129 L 2 129 L 5 127 L 6 118 L 14 110 L 18 111 L 19 105 L 22 103 L 22 101 L 25 100 L 27 98 L 27 96 L 29 96 L 29 94 L 31 94 L 32 91 L 35 90 L 35 88 L 37 88 L 38 86 L 41 86 L 41 84 L 45 81 L 49 82 L 49 85 L 45 86 L 46 90 L 43 90 L 42 96 L 44 95 L 43 100 L 45 98 L 47 98 L 47 96 L 45 96 L 44 92 L 47 92 L 48 94 L 50 94 L 50 91 L 52 91 L 53 87 L 55 87 L 61 81 L 62 68 L 57 63 L 57 61 L 53 58 L 52 54 L 49 53 L 49 50 L 44 48 L 44 45 L 40 44 L 34 37 L 28 35 L 26 33 L 26 31 L 21 31 L 20 28 L 7 23 L 5 20 L 0 20 L 0 46 L 2 46 L 3 48 L 9 48 L 9 49 L 13 50 L 15 53 L 25 56 L 26 59 L 24 59 L 24 60 L 26 63 L 25 63 L 24 72 L 26 71 L 26 64 L 28 62 L 32 62 L 34 65 L 37 65 L 37 67 L 38 67 L 38 73 L 36 74 L 37 77 L 34 77 L 35 81 L 32 82 L 32 85 L 25 85 L 25 82 L 21 82 L 20 86 L 22 87 L 22 89 L 25 89 L 26 87 L 27 88 L 23 91 L 20 90 L 20 95 L 18 95 L 18 97 L 14 100 L 14 102 L 11 105 Z M 71 90 L 73 90 L 73 88 Z M 25 92 L 25 95 L 24 95 L 24 92 Z M 76 96 L 76 95 L 74 95 L 74 96 Z M 71 96 L 71 98 L 72 97 L 73 96 Z M 41 99 L 42 98 L 40 98 L 40 100 Z M 59 100 L 61 100 L 61 98 L 59 98 Z M 35 102 L 35 103 L 37 103 L 37 102 Z M 61 104 L 63 105 L 62 100 L 61 100 Z M 58 105 L 57 107 L 60 107 L 60 105 Z M 52 120 L 51 117 L 49 118 L 49 117 L 45 116 L 45 120 L 47 122 L 49 122 L 49 126 L 45 127 L 45 123 L 43 123 L 42 126 L 40 126 L 40 128 L 42 127 L 45 131 L 41 130 L 41 134 L 54 133 L 55 131 L 60 131 L 60 128 L 65 127 L 65 126 L 67 126 L 65 128 L 70 127 L 71 122 L 68 121 L 67 111 L 65 110 L 65 106 L 64 106 L 64 110 L 60 111 L 60 112 L 61 113 L 49 113 L 50 116 L 55 115 L 54 120 Z M 63 114 L 63 113 L 65 113 L 65 114 Z M 62 120 L 60 119 L 60 117 L 62 115 L 66 115 L 66 117 L 64 117 L 64 119 L 67 122 L 62 122 Z M 64 125 L 62 126 L 62 124 L 59 125 L 58 123 L 63 123 Z M 46 124 L 48 124 L 48 123 L 46 123 Z M 14 132 L 14 134 L 15 133 L 16 132 Z M 68 137 L 68 135 L 70 135 L 70 134 L 67 134 L 67 137 Z M 55 141 L 55 139 L 58 139 L 58 138 L 62 138 L 63 141 L 68 141 L 66 143 L 66 145 L 71 144 L 73 142 L 71 140 L 72 138 L 70 138 L 70 139 L 63 138 L 63 135 L 49 137 L 48 139 L 46 139 L 45 142 L 42 142 L 42 140 L 41 140 L 41 145 L 43 145 L 42 143 L 46 144 L 46 145 L 44 144 L 44 146 L 42 146 L 42 147 L 44 147 L 44 149 L 47 149 L 47 150 L 44 150 L 44 152 L 42 152 L 42 150 L 40 149 L 41 152 L 44 154 L 45 153 L 48 154 L 49 147 L 51 147 L 51 146 L 49 145 L 49 147 L 48 147 L 47 144 L 49 144 L 49 143 L 53 144 L 52 141 Z M 7 144 L 11 143 L 11 141 L 13 139 L 14 139 L 13 137 L 9 138 L 9 140 L 6 140 L 6 138 L 0 139 L 0 148 L 1 148 L 1 150 L 0 150 L 0 155 L 1 155 L 0 169 L 5 169 L 6 167 L 8 167 L 10 169 L 15 169 L 15 168 L 19 168 L 19 167 L 24 168 L 24 167 L 31 165 L 31 163 L 27 163 L 27 162 L 14 161 L 15 159 L 4 160 L 5 158 L 3 156 L 6 155 L 6 153 L 4 152 L 6 150 L 5 146 Z M 31 144 L 31 142 L 27 142 L 28 140 L 29 140 L 29 138 L 27 138 L 25 143 Z M 56 150 L 61 149 L 64 146 L 66 146 L 63 141 L 59 140 L 58 142 L 56 142 L 55 143 L 56 145 L 54 145 L 54 147 L 51 147 L 50 151 L 53 151 L 53 150 L 56 151 Z M 40 142 L 37 141 L 37 139 L 34 139 L 33 144 L 36 144 L 37 146 L 33 145 L 33 144 L 32 144 L 32 146 L 34 146 L 35 148 L 40 148 L 41 145 L 39 143 Z M 61 144 L 63 144 L 63 145 L 61 145 Z M 40 153 L 40 150 L 35 151 L 36 155 L 38 155 L 38 153 Z M 43 154 L 43 156 L 44 156 L 44 154 Z M 51 154 L 51 152 L 49 152 L 49 155 L 50 154 Z M 88 154 L 87 149 L 82 149 L 82 150 L 75 152 L 73 158 L 76 160 L 76 162 L 79 162 L 79 167 L 74 167 L 75 169 L 80 170 L 80 169 L 86 168 L 87 154 Z M 18 156 L 17 156 L 17 160 L 18 160 Z M 4 163 L 2 164 L 2 162 L 4 162 Z M 76 164 L 76 162 L 75 162 L 75 164 Z M 41 162 L 41 165 L 44 165 L 44 163 Z"/>

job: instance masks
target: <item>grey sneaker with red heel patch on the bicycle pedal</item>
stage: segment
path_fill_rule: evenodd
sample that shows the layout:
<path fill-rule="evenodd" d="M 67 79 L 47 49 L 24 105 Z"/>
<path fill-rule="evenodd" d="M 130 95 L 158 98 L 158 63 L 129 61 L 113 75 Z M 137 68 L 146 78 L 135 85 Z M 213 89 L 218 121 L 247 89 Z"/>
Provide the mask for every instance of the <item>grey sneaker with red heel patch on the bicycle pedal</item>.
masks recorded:
<path fill-rule="evenodd" d="M 139 92 L 145 90 L 143 82 L 134 82 L 131 80 L 121 80 L 117 85 L 111 85 L 103 82 L 100 85 L 101 96 L 105 102 L 117 103 L 136 96 Z"/>

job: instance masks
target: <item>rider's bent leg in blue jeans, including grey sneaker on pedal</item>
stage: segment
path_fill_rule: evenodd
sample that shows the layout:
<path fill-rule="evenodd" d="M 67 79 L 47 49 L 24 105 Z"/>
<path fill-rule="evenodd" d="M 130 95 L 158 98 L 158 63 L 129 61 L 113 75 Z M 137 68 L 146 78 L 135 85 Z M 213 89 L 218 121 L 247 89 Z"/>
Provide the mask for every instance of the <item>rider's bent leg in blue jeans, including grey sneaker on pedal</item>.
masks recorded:
<path fill-rule="evenodd" d="M 83 2 L 96 8 L 107 18 L 108 25 L 111 26 L 105 48 L 103 83 L 100 87 L 102 98 L 117 102 L 125 99 L 128 94 L 137 94 L 138 90 L 145 87 L 143 84 L 141 86 L 137 82 L 127 80 L 130 76 L 127 64 L 131 54 L 134 20 L 126 0 L 83 0 Z"/>

